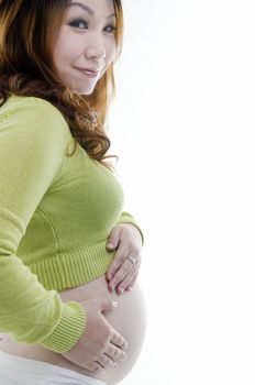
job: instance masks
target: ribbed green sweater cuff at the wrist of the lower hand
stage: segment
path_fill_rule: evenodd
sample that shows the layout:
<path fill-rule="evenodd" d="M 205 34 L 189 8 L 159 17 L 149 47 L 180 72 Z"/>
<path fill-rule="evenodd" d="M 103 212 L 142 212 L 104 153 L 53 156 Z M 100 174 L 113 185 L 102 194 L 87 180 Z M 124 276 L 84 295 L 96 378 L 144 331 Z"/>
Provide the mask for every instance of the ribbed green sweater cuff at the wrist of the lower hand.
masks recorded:
<path fill-rule="evenodd" d="M 75 301 L 63 302 L 62 316 L 54 331 L 38 343 L 56 353 L 68 352 L 80 339 L 86 324 L 84 307 Z"/>

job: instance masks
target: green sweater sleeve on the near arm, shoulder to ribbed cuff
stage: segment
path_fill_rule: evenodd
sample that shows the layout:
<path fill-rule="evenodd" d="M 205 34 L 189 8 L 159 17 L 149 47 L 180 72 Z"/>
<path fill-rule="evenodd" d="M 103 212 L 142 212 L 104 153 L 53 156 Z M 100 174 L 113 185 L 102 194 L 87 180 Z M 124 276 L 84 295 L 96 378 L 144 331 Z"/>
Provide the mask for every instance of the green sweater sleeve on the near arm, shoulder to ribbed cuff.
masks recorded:
<path fill-rule="evenodd" d="M 67 128 L 62 114 L 40 98 L 20 98 L 0 109 L 0 332 L 58 353 L 70 350 L 81 337 L 84 308 L 46 290 L 16 250 L 57 178 Z"/>

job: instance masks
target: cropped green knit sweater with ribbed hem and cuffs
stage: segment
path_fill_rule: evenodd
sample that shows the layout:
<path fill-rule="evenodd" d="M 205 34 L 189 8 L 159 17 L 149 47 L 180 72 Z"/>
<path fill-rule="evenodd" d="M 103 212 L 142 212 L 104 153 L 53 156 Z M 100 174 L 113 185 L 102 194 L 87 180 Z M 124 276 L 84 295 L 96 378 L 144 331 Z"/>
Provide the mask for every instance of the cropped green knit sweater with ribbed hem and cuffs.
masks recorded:
<path fill-rule="evenodd" d="M 44 99 L 12 95 L 0 108 L 0 331 L 59 353 L 79 340 L 86 314 L 58 292 L 106 273 L 117 223 L 138 228 L 115 176 L 80 145 L 67 156 L 73 148 Z"/>

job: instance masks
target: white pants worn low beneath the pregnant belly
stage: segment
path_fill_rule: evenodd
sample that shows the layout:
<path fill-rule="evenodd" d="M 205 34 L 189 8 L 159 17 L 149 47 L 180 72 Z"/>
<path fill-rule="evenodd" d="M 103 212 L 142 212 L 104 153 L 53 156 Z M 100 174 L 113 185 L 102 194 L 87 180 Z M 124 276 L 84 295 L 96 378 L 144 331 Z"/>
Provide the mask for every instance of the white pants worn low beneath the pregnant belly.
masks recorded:
<path fill-rule="evenodd" d="M 43 361 L 0 351 L 1 385 L 106 385 L 102 381 Z"/>

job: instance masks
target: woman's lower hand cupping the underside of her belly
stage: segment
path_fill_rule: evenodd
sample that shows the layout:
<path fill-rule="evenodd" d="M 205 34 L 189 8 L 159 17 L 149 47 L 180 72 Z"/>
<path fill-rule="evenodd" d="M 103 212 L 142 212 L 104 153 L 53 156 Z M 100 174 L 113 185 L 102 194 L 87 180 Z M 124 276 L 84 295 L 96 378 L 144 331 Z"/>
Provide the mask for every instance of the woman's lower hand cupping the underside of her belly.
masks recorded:
<path fill-rule="evenodd" d="M 80 304 L 86 311 L 85 332 L 75 346 L 62 355 L 93 373 L 118 369 L 118 361 L 125 360 L 124 350 L 127 343 L 102 315 L 102 311 L 114 311 L 114 302 L 107 298 L 97 298 Z"/>

